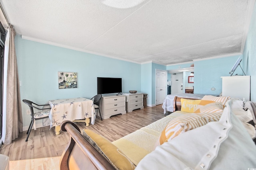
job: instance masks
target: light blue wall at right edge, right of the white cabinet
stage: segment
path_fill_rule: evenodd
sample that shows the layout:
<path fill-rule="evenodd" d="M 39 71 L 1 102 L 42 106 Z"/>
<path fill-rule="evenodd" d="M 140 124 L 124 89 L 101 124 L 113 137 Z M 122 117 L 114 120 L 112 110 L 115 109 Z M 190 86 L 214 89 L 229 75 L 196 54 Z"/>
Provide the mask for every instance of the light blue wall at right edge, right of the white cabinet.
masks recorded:
<path fill-rule="evenodd" d="M 256 102 L 256 3 L 243 52 L 243 70 L 251 76 L 251 101 Z"/>

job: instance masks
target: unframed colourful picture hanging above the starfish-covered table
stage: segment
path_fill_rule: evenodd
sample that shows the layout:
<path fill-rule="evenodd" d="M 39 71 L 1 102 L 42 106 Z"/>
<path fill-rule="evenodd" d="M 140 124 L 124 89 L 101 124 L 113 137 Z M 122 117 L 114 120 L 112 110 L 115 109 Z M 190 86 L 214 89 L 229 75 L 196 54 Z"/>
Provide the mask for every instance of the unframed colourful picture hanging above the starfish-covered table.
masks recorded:
<path fill-rule="evenodd" d="M 77 88 L 77 72 L 58 72 L 59 89 Z"/>

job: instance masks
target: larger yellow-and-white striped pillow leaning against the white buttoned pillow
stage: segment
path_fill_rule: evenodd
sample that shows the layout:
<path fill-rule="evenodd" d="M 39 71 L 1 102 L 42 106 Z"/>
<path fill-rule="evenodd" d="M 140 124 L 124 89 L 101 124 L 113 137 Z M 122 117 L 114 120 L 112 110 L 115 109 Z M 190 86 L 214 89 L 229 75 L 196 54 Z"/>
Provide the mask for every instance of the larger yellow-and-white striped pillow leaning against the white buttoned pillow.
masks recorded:
<path fill-rule="evenodd" d="M 206 125 L 208 122 L 219 121 L 221 115 L 222 113 L 188 113 L 176 117 L 166 125 L 159 137 L 159 143 L 157 145 L 162 145 L 164 142 L 170 141 L 180 133 Z"/>

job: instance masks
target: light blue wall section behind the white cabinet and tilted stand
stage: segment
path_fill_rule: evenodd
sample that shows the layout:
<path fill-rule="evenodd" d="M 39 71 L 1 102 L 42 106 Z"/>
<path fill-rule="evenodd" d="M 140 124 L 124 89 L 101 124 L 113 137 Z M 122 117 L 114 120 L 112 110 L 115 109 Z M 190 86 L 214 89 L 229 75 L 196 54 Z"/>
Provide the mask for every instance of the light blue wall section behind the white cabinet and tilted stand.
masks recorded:
<path fill-rule="evenodd" d="M 194 93 L 219 95 L 222 92 L 221 76 L 230 76 L 229 72 L 236 63 L 239 55 L 222 57 L 218 59 L 202 60 L 194 62 Z M 234 74 L 242 75 L 239 67 Z M 216 90 L 212 91 L 214 87 Z"/>

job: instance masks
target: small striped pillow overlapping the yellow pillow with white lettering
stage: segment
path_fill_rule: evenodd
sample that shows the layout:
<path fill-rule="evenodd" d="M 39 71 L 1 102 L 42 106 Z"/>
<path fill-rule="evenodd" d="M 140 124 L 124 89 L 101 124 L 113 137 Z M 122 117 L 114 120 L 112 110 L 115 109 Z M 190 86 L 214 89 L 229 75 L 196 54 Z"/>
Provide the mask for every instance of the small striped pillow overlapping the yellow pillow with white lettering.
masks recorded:
<path fill-rule="evenodd" d="M 223 112 L 224 106 L 220 102 L 213 102 L 206 104 L 205 106 L 199 107 L 194 113 L 218 113 Z"/>

